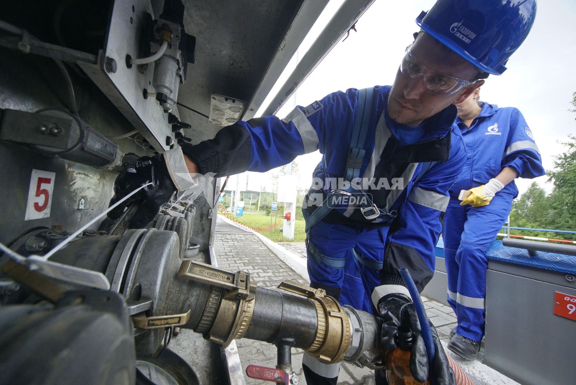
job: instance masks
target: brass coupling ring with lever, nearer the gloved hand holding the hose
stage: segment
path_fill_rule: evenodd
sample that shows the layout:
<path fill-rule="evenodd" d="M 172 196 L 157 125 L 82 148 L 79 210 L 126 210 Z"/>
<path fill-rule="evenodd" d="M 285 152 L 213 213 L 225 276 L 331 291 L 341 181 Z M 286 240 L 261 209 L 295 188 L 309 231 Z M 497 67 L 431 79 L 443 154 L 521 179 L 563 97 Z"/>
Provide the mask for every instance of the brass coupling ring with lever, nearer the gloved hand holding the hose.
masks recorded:
<path fill-rule="evenodd" d="M 316 307 L 316 337 L 306 352 L 324 364 L 342 361 L 350 344 L 350 322 L 340 303 L 327 296 L 324 289 L 313 289 L 295 281 L 284 281 L 278 288 L 304 296 Z"/>

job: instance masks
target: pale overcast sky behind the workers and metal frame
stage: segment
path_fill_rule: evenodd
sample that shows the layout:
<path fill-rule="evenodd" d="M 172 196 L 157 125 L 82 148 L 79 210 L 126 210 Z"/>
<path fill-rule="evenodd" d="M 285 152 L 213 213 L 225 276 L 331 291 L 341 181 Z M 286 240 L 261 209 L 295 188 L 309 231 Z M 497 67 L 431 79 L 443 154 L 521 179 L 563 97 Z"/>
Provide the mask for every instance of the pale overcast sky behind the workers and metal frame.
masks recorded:
<path fill-rule="evenodd" d="M 342 0 L 331 0 L 320 20 L 302 43 L 302 57 L 323 25 L 329 20 Z M 298 88 L 295 103 L 308 105 L 325 95 L 348 88 L 366 88 L 373 85 L 391 85 L 404 48 L 412 42 L 412 33 L 418 31 L 414 19 L 422 10 L 428 10 L 434 0 L 392 2 L 376 0 L 356 24 L 358 32 L 340 42 L 324 61 Z M 576 18 L 574 0 L 540 0 L 536 21 L 524 44 L 507 63 L 502 76 L 490 76 L 482 87 L 480 99 L 500 107 L 517 107 L 524 115 L 534 134 L 543 158 L 544 167 L 554 167 L 556 154 L 563 151 L 558 140 L 576 133 L 576 114 L 569 112 L 572 94 L 576 91 L 575 33 L 571 29 Z M 285 78 L 292 65 L 287 68 Z M 283 79 L 279 81 L 283 83 Z M 275 94 L 275 90 L 272 92 Z M 283 118 L 292 110 L 288 102 L 278 112 Z M 266 107 L 266 101 L 264 103 Z M 319 152 L 296 158 L 300 169 L 300 188 L 307 188 L 312 171 L 320 161 Z M 271 172 L 248 172 L 248 187 L 259 190 L 266 186 L 271 191 Z M 537 181 L 548 191 L 546 177 Z M 230 180 L 230 185 L 235 184 Z M 532 180 L 518 179 L 520 192 Z"/>

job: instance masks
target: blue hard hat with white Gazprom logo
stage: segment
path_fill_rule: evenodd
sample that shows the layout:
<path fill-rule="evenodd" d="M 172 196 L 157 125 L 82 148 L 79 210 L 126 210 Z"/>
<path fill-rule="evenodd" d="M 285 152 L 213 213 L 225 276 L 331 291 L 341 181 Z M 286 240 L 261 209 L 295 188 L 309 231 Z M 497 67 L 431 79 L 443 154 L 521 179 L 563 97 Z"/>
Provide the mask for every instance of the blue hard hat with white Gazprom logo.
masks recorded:
<path fill-rule="evenodd" d="M 438 0 L 416 24 L 474 66 L 500 75 L 535 17 L 535 0 Z"/>

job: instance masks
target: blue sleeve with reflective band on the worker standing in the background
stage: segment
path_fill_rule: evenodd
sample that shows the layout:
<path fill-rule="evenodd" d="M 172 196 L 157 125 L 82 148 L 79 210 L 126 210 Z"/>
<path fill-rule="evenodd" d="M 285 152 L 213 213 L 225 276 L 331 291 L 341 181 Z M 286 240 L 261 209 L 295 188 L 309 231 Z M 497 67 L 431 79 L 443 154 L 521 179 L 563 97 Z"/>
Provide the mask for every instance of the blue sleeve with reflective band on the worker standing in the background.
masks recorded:
<path fill-rule="evenodd" d="M 502 167 L 515 168 L 521 178 L 536 178 L 545 174 L 540 150 L 532 137 L 532 130 L 517 109 L 514 109 L 510 116 L 510 131 Z"/>

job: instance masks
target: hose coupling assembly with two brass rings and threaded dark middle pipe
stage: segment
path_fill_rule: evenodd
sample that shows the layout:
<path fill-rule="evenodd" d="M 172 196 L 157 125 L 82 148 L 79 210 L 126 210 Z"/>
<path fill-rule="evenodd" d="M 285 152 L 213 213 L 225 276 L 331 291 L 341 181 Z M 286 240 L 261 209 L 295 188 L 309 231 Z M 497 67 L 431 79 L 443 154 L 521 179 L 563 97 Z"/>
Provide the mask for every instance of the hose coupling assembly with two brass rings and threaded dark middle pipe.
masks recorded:
<path fill-rule="evenodd" d="M 194 281 L 188 327 L 204 338 L 228 346 L 249 338 L 276 346 L 290 339 L 321 363 L 342 360 L 360 367 L 384 367 L 382 322 L 367 312 L 342 307 L 324 289 L 284 281 L 278 291 L 257 288 L 250 274 L 197 261 L 184 261 L 178 277 Z M 204 295 L 195 295 L 203 288 Z M 201 313 L 201 314 L 200 314 Z"/>

